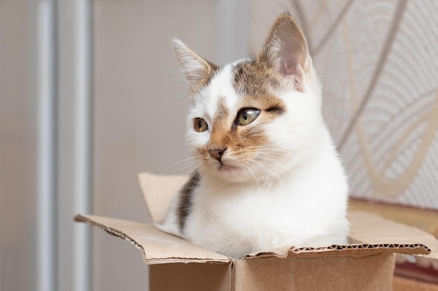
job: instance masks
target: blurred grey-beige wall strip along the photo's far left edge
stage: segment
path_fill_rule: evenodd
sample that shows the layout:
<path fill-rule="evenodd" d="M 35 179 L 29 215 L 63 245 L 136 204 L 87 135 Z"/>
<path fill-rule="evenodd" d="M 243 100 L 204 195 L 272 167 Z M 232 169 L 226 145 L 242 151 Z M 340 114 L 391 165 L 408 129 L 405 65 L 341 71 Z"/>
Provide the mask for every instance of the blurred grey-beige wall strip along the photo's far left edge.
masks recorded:
<path fill-rule="evenodd" d="M 24 1 L 0 1 L 1 291 L 36 290 L 38 284 L 38 104 L 29 16 Z"/>

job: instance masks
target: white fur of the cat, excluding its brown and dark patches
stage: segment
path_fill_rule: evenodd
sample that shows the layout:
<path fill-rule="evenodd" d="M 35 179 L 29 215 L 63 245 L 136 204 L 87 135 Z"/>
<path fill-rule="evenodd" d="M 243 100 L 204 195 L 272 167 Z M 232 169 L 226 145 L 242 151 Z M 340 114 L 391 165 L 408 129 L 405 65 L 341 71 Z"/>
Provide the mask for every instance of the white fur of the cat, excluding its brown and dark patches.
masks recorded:
<path fill-rule="evenodd" d="M 281 246 L 346 244 L 346 176 L 323 122 L 320 83 L 313 68 L 310 79 L 304 93 L 272 92 L 283 100 L 286 112 L 269 124 L 253 121 L 253 126 L 262 126 L 269 142 L 246 170 L 218 170 L 214 158 L 207 163 L 199 158 L 202 179 L 193 193 L 184 233 L 176 225 L 178 197 L 162 230 L 232 258 Z M 227 65 L 196 96 L 188 115 L 187 139 L 193 149 L 209 142 L 218 98 L 225 98 L 230 126 L 234 121 L 241 96 L 232 80 L 232 65 Z M 205 119 L 209 130 L 195 132 L 196 117 Z M 228 151 L 222 161 L 241 162 Z"/>

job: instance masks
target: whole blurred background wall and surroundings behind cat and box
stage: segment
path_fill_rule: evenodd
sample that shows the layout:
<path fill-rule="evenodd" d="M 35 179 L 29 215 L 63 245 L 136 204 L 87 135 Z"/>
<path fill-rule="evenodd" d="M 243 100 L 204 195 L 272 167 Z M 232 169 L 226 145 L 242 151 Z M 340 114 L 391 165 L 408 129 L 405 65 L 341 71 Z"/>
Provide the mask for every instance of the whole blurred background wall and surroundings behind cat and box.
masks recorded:
<path fill-rule="evenodd" d="M 148 290 L 136 248 L 73 216 L 148 222 L 136 174 L 190 171 L 172 38 L 222 65 L 286 10 L 351 208 L 437 236 L 437 1 L 0 0 L 0 290 Z M 432 265 L 399 269 L 395 288 L 438 283 Z"/>

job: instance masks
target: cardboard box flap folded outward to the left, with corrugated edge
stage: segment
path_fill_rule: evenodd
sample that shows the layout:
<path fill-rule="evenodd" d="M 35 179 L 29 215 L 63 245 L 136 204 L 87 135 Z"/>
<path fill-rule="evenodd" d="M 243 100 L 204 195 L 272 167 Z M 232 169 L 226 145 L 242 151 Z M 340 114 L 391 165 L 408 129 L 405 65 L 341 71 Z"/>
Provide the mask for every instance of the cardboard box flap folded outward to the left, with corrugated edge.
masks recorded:
<path fill-rule="evenodd" d="M 143 259 L 148 264 L 163 264 L 169 262 L 230 262 L 225 255 L 209 251 L 202 246 L 166 234 L 146 223 L 123 221 L 92 215 L 76 215 L 75 221 L 87 222 L 90 225 L 126 239 L 139 248 Z"/>

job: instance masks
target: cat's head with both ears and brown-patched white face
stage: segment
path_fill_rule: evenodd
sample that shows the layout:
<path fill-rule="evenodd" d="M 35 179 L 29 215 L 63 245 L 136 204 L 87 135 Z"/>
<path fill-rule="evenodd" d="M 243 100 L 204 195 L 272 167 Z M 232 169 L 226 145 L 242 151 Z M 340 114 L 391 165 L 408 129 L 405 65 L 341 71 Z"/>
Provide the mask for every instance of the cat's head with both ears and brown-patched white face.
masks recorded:
<path fill-rule="evenodd" d="M 276 19 L 255 60 L 218 67 L 180 40 L 174 47 L 190 84 L 187 139 L 202 175 L 268 182 L 310 154 L 323 122 L 320 85 L 290 15 Z"/>

